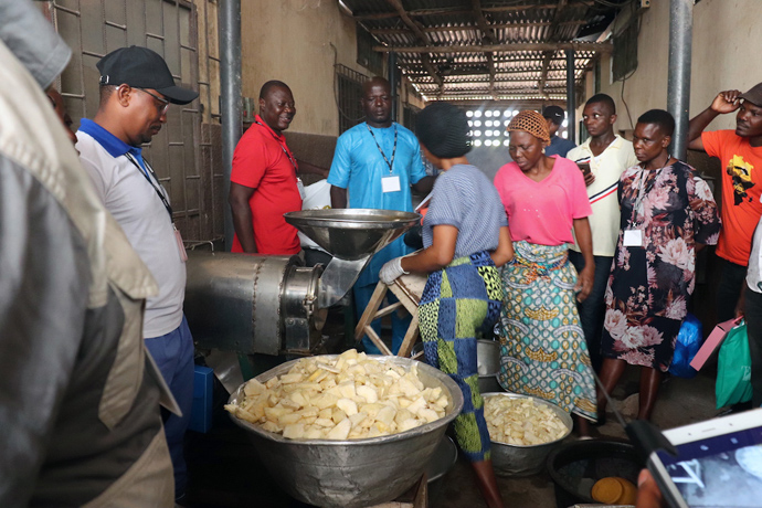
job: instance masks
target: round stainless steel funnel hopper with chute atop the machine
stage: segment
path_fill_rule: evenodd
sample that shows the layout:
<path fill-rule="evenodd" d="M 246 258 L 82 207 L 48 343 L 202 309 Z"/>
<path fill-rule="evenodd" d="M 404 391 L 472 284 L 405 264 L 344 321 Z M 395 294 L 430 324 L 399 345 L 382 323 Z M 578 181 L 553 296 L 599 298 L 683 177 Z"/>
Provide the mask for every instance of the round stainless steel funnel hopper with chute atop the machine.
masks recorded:
<path fill-rule="evenodd" d="M 371 209 L 303 210 L 284 216 L 334 256 L 319 281 L 321 308 L 339 301 L 373 254 L 421 220 L 414 212 Z"/>

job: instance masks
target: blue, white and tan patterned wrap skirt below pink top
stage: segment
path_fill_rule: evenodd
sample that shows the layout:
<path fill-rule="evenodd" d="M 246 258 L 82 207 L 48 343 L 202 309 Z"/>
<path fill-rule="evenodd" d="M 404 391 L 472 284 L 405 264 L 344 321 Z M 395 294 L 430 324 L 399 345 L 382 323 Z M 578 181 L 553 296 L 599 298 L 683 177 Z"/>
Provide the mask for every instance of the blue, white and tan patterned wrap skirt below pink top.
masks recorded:
<path fill-rule="evenodd" d="M 596 419 L 595 381 L 576 311 L 568 245 L 515 242 L 502 267 L 500 385 Z"/>

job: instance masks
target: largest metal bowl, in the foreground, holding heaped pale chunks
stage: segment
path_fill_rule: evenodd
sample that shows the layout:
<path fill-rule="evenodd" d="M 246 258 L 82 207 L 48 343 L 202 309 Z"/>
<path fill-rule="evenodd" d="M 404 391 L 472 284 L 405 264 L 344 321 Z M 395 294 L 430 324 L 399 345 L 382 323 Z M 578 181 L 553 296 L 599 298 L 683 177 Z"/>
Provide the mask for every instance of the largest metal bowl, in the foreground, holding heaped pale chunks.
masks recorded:
<path fill-rule="evenodd" d="M 337 356 L 324 358 L 336 359 Z M 381 437 L 294 441 L 231 415 L 239 426 L 247 431 L 262 462 L 290 496 L 326 508 L 359 508 L 390 501 L 421 477 L 447 424 L 461 413 L 463 392 L 447 374 L 410 358 L 373 358 L 406 370 L 417 364 L 419 379 L 426 388 L 441 387 L 447 393 L 449 404 L 445 416 Z M 264 383 L 286 373 L 296 361 L 283 363 L 256 379 Z M 230 404 L 242 400 L 244 384 L 230 396 Z"/>

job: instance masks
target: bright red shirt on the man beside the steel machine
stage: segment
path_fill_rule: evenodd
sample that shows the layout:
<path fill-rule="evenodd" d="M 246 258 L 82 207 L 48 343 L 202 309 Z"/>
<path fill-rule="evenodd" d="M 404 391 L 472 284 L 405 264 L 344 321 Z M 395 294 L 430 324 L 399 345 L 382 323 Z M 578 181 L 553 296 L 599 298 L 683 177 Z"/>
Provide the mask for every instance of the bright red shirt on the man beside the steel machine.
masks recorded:
<path fill-rule="evenodd" d="M 296 227 L 283 214 L 301 210 L 296 183 L 296 158 L 286 138 L 275 134 L 260 117 L 241 137 L 233 152 L 230 181 L 254 189 L 252 209 L 254 241 L 261 254 L 296 254 L 301 250 Z M 237 235 L 232 252 L 243 252 Z"/>

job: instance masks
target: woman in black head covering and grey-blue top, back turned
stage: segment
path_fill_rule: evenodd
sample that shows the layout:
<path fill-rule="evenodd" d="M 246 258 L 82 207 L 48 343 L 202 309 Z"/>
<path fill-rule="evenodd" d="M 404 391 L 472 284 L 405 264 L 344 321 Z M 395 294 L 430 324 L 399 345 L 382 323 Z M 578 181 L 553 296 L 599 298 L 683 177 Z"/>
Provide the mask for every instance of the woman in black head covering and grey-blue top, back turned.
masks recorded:
<path fill-rule="evenodd" d="M 426 362 L 463 390 L 455 435 L 487 506 L 498 508 L 504 505 L 489 455 L 476 343 L 489 336 L 499 316 L 502 292 L 496 266 L 514 256 L 510 232 L 500 197 L 466 159 L 470 145 L 465 113 L 433 103 L 419 114 L 416 131 L 426 159 L 444 172 L 423 220 L 424 250 L 389 261 L 379 278 L 392 284 L 409 272 L 428 274 L 419 305 Z"/>

